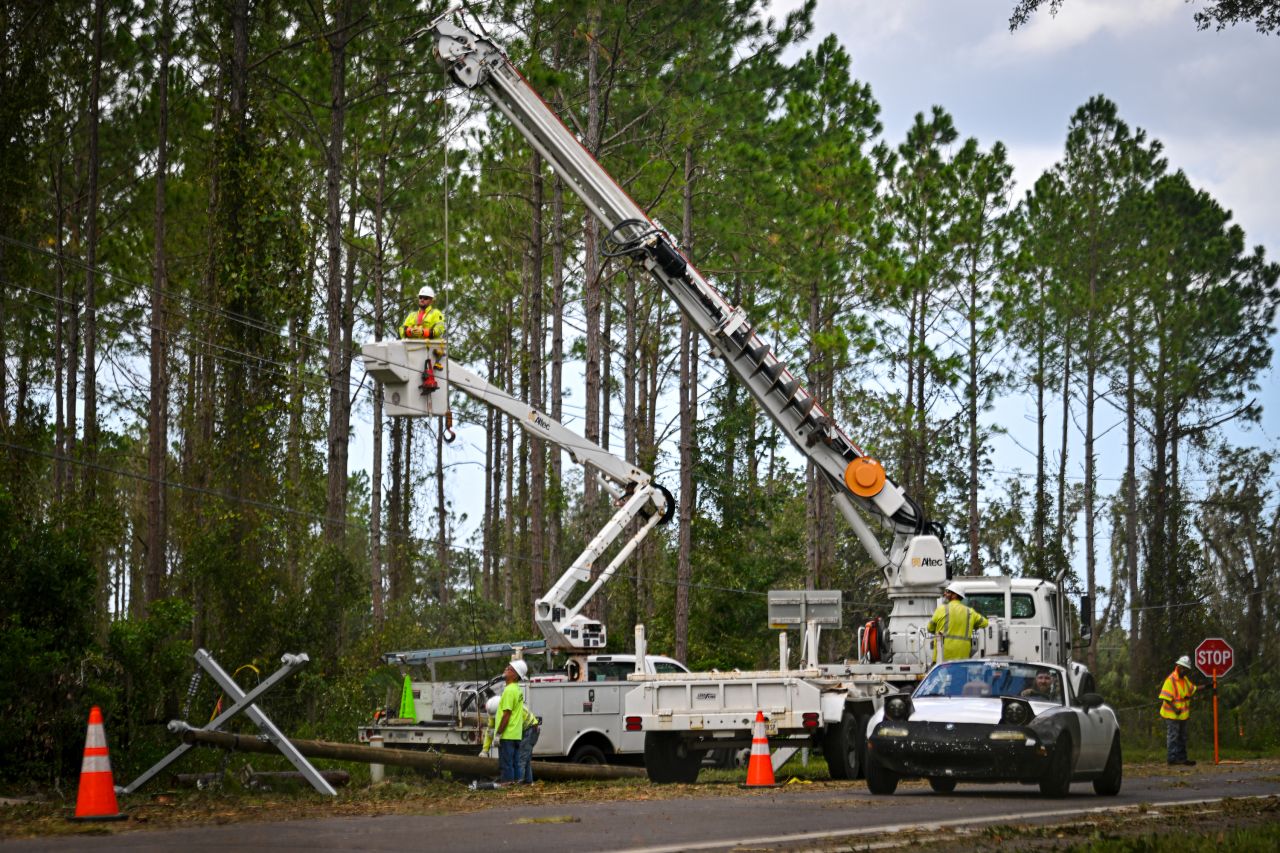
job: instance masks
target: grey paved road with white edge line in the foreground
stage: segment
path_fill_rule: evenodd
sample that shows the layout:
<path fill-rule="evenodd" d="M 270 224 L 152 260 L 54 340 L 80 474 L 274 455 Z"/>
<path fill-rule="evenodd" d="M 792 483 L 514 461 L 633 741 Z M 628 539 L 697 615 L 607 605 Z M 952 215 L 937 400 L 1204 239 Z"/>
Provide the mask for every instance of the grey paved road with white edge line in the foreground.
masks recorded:
<path fill-rule="evenodd" d="M 1126 779 L 1119 797 L 1096 797 L 1088 784 L 1071 786 L 1066 799 L 1042 799 L 1019 785 L 961 786 L 940 795 L 927 786 L 899 789 L 892 798 L 870 797 L 861 783 L 847 786 L 739 792 L 685 799 L 564 803 L 452 816 L 300 820 L 182 830 L 137 831 L 9 841 L 9 850 L 174 850 L 224 853 L 227 849 L 283 850 L 713 850 L 812 847 L 823 839 L 865 836 L 896 827 L 980 826 L 983 824 L 1062 822 L 1071 815 L 1139 803 L 1211 800 L 1222 797 L 1280 795 L 1274 765 L 1183 770 Z M 726 792 L 718 792 L 726 793 Z M 429 807 L 424 803 L 424 807 Z"/>

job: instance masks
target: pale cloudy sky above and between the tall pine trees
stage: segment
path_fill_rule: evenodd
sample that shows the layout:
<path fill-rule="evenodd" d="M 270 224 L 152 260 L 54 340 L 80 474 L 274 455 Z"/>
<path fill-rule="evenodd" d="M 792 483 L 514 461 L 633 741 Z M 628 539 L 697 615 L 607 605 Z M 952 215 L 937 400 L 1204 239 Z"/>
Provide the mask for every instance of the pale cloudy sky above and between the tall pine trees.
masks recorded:
<path fill-rule="evenodd" d="M 881 105 L 883 138 L 891 145 L 904 138 L 916 113 L 936 104 L 952 115 L 963 137 L 977 137 L 983 147 L 1004 142 L 1015 167 L 1015 200 L 1061 156 L 1071 114 L 1091 96 L 1105 95 L 1132 128 L 1164 142 L 1171 169 L 1185 170 L 1194 186 L 1234 213 L 1249 246 L 1261 243 L 1270 257 L 1280 256 L 1280 205 L 1275 201 L 1280 197 L 1280 99 L 1275 95 L 1280 37 L 1258 35 L 1248 26 L 1201 32 L 1192 17 L 1197 5 L 1184 0 L 1065 0 L 1057 15 L 1042 10 L 1010 33 L 1014 4 L 818 0 L 813 37 L 796 54 L 836 33 L 852 58 L 855 77 L 870 85 Z M 800 0 L 776 0 L 772 14 L 781 17 L 799 5 Z M 1274 345 L 1280 350 L 1280 336 Z M 1233 429 L 1231 439 L 1280 450 L 1275 360 L 1260 384 L 1262 425 Z M 675 407 L 667 415 L 673 419 Z M 1028 450 L 1034 442 L 1030 415 L 1029 402 L 1021 398 L 1004 400 L 992 412 L 991 420 L 1010 430 L 995 448 L 997 478 L 1029 475 L 1034 462 Z M 564 423 L 581 429 L 575 420 L 567 416 Z M 1119 485 L 1124 470 L 1121 432 L 1112 429 L 1101 447 L 1103 492 Z M 461 525 L 465 535 L 480 515 L 480 469 L 471 462 L 484 457 L 484 435 L 474 426 L 460 433 L 462 439 L 449 455 L 456 466 L 449 479 L 456 510 L 471 516 Z M 367 470 L 361 444 L 367 448 L 357 438 L 352 467 Z M 1070 473 L 1079 478 L 1079 448 L 1073 452 Z M 659 480 L 673 479 L 671 461 L 659 469 Z M 1204 487 L 1216 475 L 1187 473 Z M 1101 533 L 1098 549 L 1105 553 L 1107 530 Z"/>

